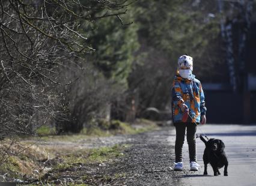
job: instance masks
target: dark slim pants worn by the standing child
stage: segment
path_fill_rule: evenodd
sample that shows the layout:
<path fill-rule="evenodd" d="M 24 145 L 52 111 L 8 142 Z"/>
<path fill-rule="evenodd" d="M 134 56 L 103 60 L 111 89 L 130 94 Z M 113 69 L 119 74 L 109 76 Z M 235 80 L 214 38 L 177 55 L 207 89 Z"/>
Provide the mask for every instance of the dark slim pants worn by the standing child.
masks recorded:
<path fill-rule="evenodd" d="M 182 161 L 182 147 L 187 128 L 187 144 L 189 145 L 189 160 L 197 161 L 197 146 L 195 141 L 195 133 L 197 125 L 194 123 L 175 123 L 176 140 L 175 140 L 175 162 Z"/>

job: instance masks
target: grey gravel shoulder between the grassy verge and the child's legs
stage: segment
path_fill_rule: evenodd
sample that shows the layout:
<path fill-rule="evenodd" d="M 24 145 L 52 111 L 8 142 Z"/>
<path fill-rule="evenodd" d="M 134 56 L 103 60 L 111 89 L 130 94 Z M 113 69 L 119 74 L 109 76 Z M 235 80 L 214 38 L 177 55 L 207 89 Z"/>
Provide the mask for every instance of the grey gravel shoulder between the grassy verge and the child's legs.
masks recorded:
<path fill-rule="evenodd" d="M 174 162 L 174 146 L 168 137 L 173 128 L 162 128 L 150 133 L 133 136 L 132 146 L 121 158 L 106 169 L 106 172 L 121 172 L 126 176 L 120 185 L 172 185 L 178 179 L 169 167 Z M 172 135 L 172 134 L 171 134 Z"/>

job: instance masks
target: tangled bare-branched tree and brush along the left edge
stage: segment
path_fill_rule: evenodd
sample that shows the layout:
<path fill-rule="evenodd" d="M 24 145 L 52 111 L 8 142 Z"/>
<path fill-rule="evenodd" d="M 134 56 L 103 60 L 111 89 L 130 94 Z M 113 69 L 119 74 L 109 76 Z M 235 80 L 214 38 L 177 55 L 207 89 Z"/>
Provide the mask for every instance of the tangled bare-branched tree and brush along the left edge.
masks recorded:
<path fill-rule="evenodd" d="M 79 26 L 121 15 L 132 1 L 0 1 L 0 137 L 35 134 L 41 124 L 62 118 L 63 99 L 53 88 L 78 79 L 76 60 L 94 49 Z M 82 61 L 83 62 L 83 61 Z M 65 70 L 64 70 L 65 69 Z M 72 76 L 62 74 L 69 71 Z M 72 77 L 72 79 L 70 79 Z M 10 140 L 10 145 L 13 140 Z M 6 155 L 8 145 L 0 145 Z"/>

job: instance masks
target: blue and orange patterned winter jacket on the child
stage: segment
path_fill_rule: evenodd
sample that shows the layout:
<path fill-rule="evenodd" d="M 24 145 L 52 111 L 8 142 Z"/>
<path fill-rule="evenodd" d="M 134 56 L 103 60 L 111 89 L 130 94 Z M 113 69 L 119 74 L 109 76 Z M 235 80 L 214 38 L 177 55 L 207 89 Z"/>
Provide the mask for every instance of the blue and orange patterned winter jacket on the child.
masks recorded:
<path fill-rule="evenodd" d="M 180 104 L 185 103 L 189 108 L 187 122 L 200 122 L 200 116 L 206 115 L 204 92 L 200 80 L 195 79 L 192 74 L 191 79 L 183 79 L 178 73 L 174 77 L 172 84 L 172 120 L 174 123 L 182 122 L 183 112 Z"/>

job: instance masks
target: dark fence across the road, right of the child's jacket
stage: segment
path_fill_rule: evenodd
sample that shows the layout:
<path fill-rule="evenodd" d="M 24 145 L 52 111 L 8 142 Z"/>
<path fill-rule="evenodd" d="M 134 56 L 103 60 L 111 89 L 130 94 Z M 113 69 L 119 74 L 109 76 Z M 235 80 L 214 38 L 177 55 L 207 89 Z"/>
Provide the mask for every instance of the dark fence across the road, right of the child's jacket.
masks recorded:
<path fill-rule="evenodd" d="M 256 123 L 256 91 L 234 93 L 228 85 L 203 85 L 207 123 Z"/>

